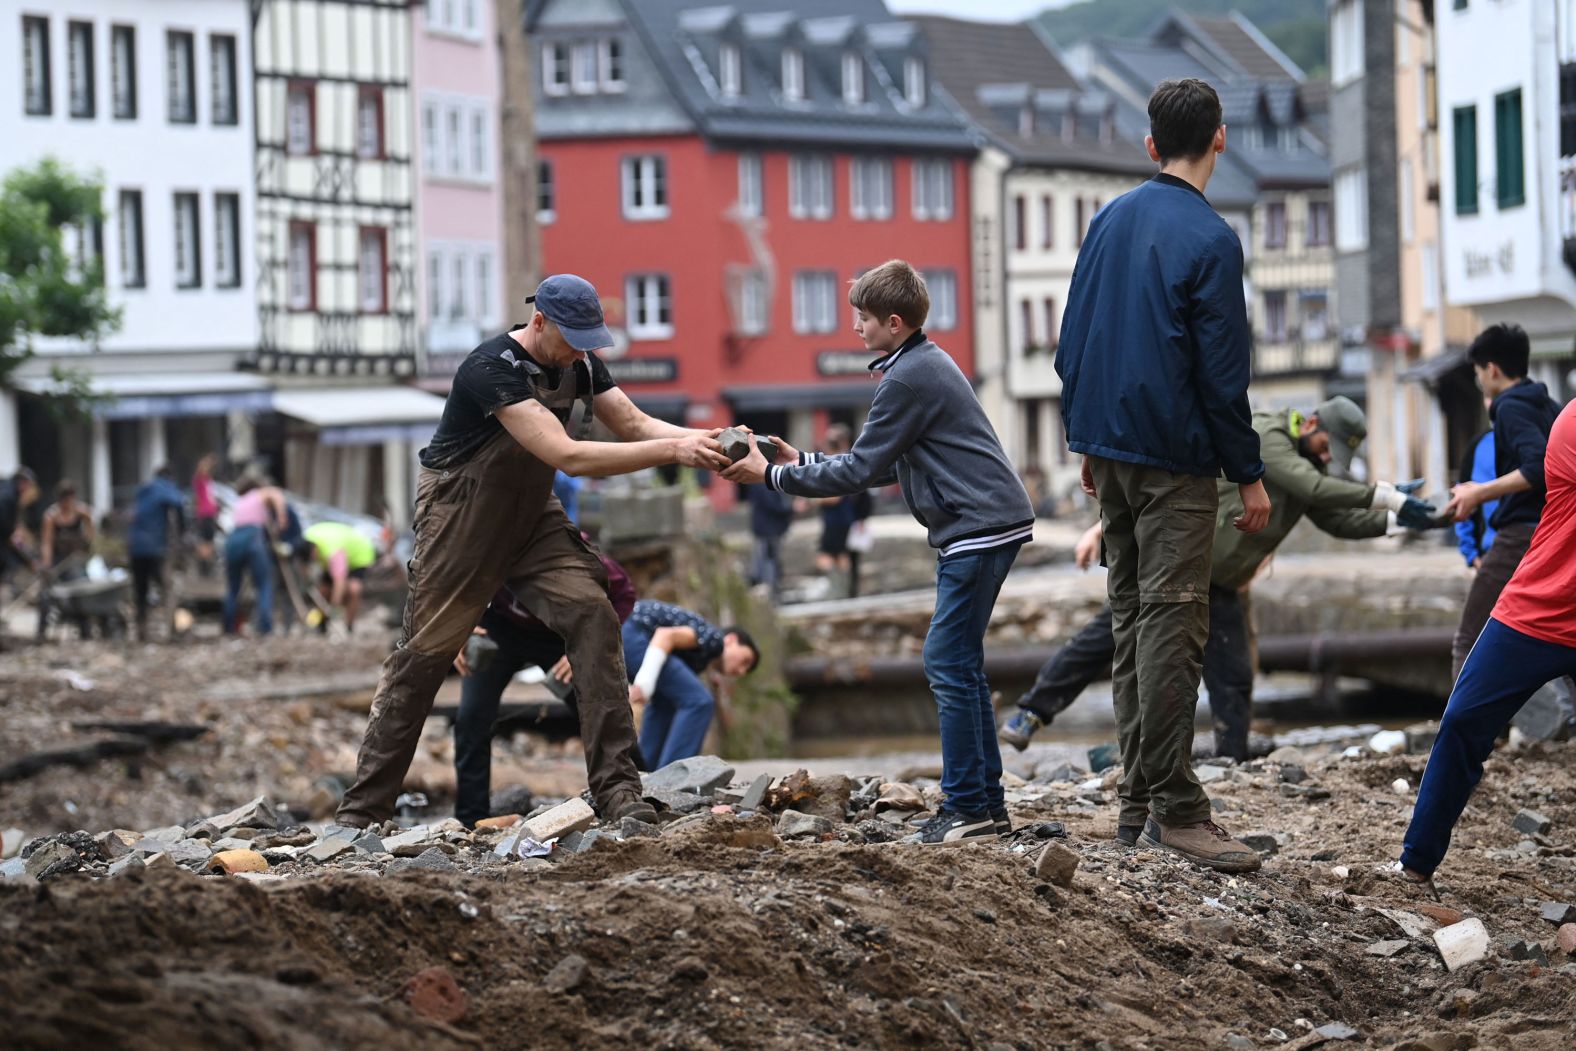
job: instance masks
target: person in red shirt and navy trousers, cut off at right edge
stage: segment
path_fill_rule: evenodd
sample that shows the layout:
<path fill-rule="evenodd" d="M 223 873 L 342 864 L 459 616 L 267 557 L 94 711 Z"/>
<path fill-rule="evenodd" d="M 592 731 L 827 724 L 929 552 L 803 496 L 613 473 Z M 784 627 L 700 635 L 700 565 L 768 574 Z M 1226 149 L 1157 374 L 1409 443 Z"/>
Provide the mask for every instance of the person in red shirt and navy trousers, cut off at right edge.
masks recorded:
<path fill-rule="evenodd" d="M 1417 789 L 1401 871 L 1429 882 L 1494 739 L 1543 684 L 1576 674 L 1576 402 L 1554 421 L 1532 545 L 1467 654 Z"/>

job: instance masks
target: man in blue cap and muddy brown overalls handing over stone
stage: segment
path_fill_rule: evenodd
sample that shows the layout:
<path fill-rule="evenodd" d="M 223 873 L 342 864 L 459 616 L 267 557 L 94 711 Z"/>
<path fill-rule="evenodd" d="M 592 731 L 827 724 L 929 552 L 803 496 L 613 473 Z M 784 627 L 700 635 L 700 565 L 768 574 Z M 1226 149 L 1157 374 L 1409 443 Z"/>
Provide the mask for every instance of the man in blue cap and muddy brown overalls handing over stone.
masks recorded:
<path fill-rule="evenodd" d="M 717 470 L 728 457 L 717 430 L 652 419 L 613 384 L 593 353 L 613 337 L 589 282 L 555 274 L 528 303 L 536 304 L 530 321 L 489 339 L 455 370 L 438 430 L 421 451 L 405 626 L 383 663 L 340 824 L 366 827 L 392 816 L 438 685 L 501 586 L 564 638 L 580 695 L 586 778 L 602 818 L 656 816 L 641 800 L 605 570 L 553 496 L 553 471 L 608 476 L 665 463 Z M 593 411 L 623 441 L 586 441 Z"/>

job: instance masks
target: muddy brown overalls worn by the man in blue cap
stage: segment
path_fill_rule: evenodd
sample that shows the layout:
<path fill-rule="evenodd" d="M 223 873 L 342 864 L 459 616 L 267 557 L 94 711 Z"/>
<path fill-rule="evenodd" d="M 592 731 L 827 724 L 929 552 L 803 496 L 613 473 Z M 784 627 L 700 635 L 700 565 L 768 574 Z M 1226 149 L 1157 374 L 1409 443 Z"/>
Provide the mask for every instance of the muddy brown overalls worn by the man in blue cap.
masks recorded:
<path fill-rule="evenodd" d="M 582 403 L 583 418 L 571 433 L 583 440 L 591 425 L 589 370 L 583 364 L 561 369 L 558 388 L 548 388 L 545 372 L 522 364 L 536 400 L 561 419 Z M 383 663 L 339 823 L 364 827 L 394 815 L 433 696 L 500 586 L 564 638 L 597 808 L 610 815 L 638 800 L 618 615 L 607 599 L 600 559 L 553 496 L 552 465 L 500 427 L 468 462 L 421 470 L 414 533 L 405 626 Z"/>

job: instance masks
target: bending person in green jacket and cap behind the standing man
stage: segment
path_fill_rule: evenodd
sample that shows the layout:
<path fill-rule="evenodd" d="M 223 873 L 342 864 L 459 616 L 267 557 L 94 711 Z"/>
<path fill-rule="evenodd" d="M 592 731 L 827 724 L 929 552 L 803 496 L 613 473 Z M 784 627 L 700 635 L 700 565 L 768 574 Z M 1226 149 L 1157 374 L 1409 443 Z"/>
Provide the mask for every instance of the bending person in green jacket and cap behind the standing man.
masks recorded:
<path fill-rule="evenodd" d="M 1253 709 L 1253 654 L 1247 618 L 1247 589 L 1264 561 L 1303 517 L 1324 533 L 1359 540 L 1384 536 L 1392 517 L 1409 529 L 1436 526 L 1434 507 L 1411 492 L 1417 482 L 1354 482 L 1332 477 L 1333 460 L 1343 471 L 1368 436 L 1363 411 L 1346 397 L 1332 397 L 1313 413 L 1292 410 L 1254 413 L 1264 459 L 1264 488 L 1270 495 L 1269 523 L 1258 533 L 1232 528 L 1242 514 L 1237 485 L 1218 482 L 1215 551 L 1209 581 L 1209 641 L 1204 646 L 1204 685 L 1215 722 L 1215 752 L 1248 758 L 1248 722 Z M 1078 566 L 1094 563 L 1100 526 L 1091 526 L 1075 551 Z M 1029 739 L 1084 687 L 1111 665 L 1111 608 L 1103 608 L 1067 646 L 1040 668 L 1034 687 L 1018 701 L 1018 711 L 1002 725 L 1001 739 L 1020 752 Z M 1136 811 L 1135 811 L 1136 813 Z M 1138 824 L 1143 824 L 1141 821 Z M 1127 830 L 1119 827 L 1117 835 Z M 1132 829 L 1136 835 L 1136 829 Z"/>

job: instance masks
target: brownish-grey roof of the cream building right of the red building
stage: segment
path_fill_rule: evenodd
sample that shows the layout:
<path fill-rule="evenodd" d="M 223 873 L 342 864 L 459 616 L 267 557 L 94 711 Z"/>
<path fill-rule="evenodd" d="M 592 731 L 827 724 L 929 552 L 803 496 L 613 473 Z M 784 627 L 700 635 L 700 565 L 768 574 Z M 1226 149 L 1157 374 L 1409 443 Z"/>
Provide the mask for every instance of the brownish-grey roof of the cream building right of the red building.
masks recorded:
<path fill-rule="evenodd" d="M 1021 164 L 1124 175 L 1154 172 L 1143 136 L 1102 137 L 1114 99 L 1091 90 L 1061 63 L 1029 24 L 969 22 L 941 16 L 909 19 L 930 41 L 933 76 L 974 128 Z M 1020 112 L 1032 107 L 1034 131 Z M 1075 120 L 1064 121 L 1072 112 Z M 1076 120 L 1083 115 L 1084 120 Z M 1064 131 L 1073 131 L 1064 137 Z"/>

